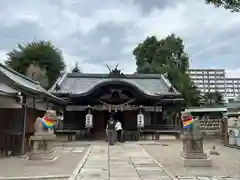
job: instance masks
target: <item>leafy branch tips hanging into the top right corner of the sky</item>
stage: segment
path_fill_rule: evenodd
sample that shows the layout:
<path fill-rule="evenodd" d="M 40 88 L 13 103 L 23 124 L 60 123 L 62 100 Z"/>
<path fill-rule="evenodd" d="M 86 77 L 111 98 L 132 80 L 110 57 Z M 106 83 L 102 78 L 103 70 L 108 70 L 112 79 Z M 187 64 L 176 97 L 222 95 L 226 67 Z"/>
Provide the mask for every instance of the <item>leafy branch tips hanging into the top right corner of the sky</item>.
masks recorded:
<path fill-rule="evenodd" d="M 214 4 L 216 7 L 224 7 L 232 12 L 240 11 L 240 0 L 205 0 L 207 4 Z"/>

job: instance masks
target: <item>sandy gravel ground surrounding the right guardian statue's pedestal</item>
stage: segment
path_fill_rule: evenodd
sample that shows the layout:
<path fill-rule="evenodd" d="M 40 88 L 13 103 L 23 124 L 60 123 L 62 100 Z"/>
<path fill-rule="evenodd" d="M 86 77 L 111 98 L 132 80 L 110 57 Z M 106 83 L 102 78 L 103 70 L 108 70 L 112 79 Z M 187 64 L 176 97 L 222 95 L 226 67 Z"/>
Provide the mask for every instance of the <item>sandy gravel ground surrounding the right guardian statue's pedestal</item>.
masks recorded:
<path fill-rule="evenodd" d="M 164 168 L 175 176 L 240 176 L 240 150 L 223 146 L 220 142 L 204 141 L 204 150 L 209 153 L 213 145 L 216 146 L 220 155 L 211 155 L 213 167 L 182 166 L 180 140 L 166 140 L 163 145 L 141 145 L 152 155 Z"/>

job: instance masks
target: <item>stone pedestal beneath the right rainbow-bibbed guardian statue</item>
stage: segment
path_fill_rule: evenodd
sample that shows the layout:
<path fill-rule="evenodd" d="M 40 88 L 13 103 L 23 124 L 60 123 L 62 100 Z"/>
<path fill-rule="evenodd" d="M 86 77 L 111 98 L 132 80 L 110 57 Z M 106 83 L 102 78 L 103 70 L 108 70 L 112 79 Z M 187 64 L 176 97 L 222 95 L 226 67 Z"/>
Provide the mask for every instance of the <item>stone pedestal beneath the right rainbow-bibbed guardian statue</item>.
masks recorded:
<path fill-rule="evenodd" d="M 184 167 L 211 167 L 212 161 L 203 151 L 203 139 L 183 135 L 183 150 L 180 152 Z"/>

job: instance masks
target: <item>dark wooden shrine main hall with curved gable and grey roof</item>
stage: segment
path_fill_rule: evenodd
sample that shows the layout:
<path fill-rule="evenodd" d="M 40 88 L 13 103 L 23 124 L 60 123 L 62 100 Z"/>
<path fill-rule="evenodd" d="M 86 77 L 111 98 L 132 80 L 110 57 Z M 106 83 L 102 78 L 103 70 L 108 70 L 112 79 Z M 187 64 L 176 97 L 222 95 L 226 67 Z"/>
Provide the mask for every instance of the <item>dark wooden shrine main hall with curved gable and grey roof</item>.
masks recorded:
<path fill-rule="evenodd" d="M 110 115 L 122 123 L 124 131 L 138 130 L 139 112 L 144 115 L 146 130 L 175 132 L 181 129 L 181 120 L 172 112 L 181 104 L 181 94 L 165 75 L 123 74 L 118 69 L 109 74 L 66 73 L 50 92 L 68 100 L 63 128 L 84 130 L 86 115 L 91 112 L 91 132 L 95 138 L 105 135 Z"/>

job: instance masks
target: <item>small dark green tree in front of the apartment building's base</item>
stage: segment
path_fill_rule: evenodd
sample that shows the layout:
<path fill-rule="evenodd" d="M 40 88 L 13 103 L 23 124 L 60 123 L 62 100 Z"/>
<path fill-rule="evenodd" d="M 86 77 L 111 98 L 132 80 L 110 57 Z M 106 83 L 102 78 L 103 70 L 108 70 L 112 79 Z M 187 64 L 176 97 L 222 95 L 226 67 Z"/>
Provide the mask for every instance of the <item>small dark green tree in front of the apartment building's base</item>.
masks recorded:
<path fill-rule="evenodd" d="M 218 92 L 206 92 L 203 95 L 203 104 L 204 105 L 221 105 L 224 104 L 223 95 Z"/>

